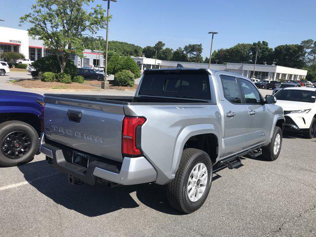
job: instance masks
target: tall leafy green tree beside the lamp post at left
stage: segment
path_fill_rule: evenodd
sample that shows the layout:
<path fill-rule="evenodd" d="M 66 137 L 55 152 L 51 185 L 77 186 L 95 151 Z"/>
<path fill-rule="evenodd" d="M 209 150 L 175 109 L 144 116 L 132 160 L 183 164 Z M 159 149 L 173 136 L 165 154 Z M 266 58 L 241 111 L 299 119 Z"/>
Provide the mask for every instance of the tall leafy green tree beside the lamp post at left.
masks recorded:
<path fill-rule="evenodd" d="M 31 12 L 20 18 L 28 23 L 32 37 L 39 36 L 44 46 L 60 54 L 60 72 L 65 70 L 72 52 L 83 57 L 85 34 L 96 34 L 105 29 L 106 10 L 100 4 L 90 7 L 94 0 L 36 0 Z M 88 9 L 89 8 L 89 9 Z"/>

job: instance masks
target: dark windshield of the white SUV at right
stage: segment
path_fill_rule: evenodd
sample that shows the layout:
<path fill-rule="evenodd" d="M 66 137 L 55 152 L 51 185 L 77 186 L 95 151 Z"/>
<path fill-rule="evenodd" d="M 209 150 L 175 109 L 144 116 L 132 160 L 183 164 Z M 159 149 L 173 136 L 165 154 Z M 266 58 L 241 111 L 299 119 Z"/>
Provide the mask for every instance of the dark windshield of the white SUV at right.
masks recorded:
<path fill-rule="evenodd" d="M 277 100 L 315 103 L 316 91 L 311 90 L 279 90 L 275 97 Z"/>

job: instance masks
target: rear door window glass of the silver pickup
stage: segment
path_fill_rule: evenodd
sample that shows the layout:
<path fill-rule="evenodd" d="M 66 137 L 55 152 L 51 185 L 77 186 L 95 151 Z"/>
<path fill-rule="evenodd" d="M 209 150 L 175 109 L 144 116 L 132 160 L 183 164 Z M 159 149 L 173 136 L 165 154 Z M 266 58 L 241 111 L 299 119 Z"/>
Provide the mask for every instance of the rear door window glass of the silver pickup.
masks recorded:
<path fill-rule="evenodd" d="M 221 75 L 220 78 L 225 98 L 234 104 L 241 104 L 241 97 L 236 78 L 225 75 Z"/>

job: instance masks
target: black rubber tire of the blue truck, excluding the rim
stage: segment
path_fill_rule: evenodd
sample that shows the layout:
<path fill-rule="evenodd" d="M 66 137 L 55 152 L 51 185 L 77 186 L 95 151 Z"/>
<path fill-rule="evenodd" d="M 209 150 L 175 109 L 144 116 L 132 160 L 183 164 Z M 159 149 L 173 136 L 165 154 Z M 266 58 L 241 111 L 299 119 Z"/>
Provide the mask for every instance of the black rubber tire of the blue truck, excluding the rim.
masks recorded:
<path fill-rule="evenodd" d="M 27 148 L 27 153 L 20 158 L 8 158 L 4 155 L 3 142 L 9 134 L 22 132 L 27 134 L 31 144 Z M 39 149 L 39 134 L 30 124 L 21 121 L 6 121 L 0 124 L 0 164 L 3 166 L 16 166 L 30 162 Z M 21 147 L 22 148 L 22 147 Z"/>

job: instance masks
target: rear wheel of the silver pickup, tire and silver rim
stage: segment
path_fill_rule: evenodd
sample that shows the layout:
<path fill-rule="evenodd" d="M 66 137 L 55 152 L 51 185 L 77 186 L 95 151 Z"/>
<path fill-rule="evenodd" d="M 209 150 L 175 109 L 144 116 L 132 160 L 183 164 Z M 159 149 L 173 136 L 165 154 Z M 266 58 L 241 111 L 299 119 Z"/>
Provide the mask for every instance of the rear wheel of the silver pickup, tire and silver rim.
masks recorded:
<path fill-rule="evenodd" d="M 193 148 L 184 150 L 175 179 L 167 186 L 170 205 L 184 213 L 199 209 L 208 196 L 212 176 L 207 153 Z"/>

